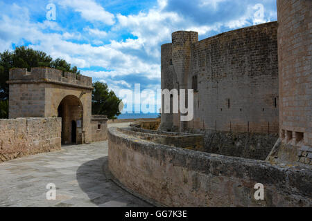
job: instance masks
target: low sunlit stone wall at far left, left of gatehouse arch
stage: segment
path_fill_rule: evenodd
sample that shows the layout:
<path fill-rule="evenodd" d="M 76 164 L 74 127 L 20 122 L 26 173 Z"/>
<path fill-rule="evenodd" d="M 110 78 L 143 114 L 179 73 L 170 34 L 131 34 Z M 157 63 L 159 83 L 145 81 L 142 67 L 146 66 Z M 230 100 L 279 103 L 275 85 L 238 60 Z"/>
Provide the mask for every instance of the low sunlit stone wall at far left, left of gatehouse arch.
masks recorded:
<path fill-rule="evenodd" d="M 60 118 L 0 119 L 0 162 L 60 148 Z"/>

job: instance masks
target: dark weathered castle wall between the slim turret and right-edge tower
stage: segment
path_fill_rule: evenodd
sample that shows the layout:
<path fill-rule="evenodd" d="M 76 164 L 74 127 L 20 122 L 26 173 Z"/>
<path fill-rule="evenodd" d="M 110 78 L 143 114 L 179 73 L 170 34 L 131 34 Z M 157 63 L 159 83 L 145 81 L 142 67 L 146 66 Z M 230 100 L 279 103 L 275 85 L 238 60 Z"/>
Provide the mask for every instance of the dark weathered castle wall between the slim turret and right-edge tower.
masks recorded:
<path fill-rule="evenodd" d="M 198 76 L 189 128 L 278 133 L 277 22 L 226 32 L 193 44 Z"/>

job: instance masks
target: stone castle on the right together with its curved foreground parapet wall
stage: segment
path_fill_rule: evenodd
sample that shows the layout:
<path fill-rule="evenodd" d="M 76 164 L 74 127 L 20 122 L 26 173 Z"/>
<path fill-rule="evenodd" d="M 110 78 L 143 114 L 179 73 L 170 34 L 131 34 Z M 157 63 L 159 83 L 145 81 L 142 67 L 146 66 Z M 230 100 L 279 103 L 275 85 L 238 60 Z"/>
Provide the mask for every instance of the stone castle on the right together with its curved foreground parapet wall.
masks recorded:
<path fill-rule="evenodd" d="M 173 32 L 162 89 L 193 89 L 194 118 L 172 112 L 174 95 L 158 131 L 110 128 L 116 180 L 165 206 L 311 207 L 311 11 L 277 0 L 277 22 L 201 41 Z"/>

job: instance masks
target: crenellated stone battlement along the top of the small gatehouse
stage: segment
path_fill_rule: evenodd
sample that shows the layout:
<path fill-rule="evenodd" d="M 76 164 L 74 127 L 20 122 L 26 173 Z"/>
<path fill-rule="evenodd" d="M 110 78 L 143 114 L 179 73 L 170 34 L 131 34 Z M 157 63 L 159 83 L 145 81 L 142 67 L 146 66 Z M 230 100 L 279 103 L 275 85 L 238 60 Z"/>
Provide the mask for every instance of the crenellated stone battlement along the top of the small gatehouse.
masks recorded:
<path fill-rule="evenodd" d="M 92 78 L 84 75 L 76 75 L 70 72 L 63 73 L 62 70 L 46 67 L 31 68 L 30 72 L 26 68 L 10 69 L 8 84 L 25 83 L 63 84 L 92 89 Z"/>

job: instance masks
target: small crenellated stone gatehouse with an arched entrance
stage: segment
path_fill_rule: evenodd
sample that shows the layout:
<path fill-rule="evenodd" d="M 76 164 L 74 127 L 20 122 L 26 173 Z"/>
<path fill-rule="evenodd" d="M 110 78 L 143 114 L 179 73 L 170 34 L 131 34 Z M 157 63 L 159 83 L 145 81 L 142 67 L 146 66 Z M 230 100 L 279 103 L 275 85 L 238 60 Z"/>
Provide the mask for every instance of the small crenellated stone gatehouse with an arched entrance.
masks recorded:
<path fill-rule="evenodd" d="M 9 118 L 62 117 L 62 144 L 106 140 L 107 118 L 91 115 L 91 77 L 53 68 L 13 68 L 9 76 Z"/>

